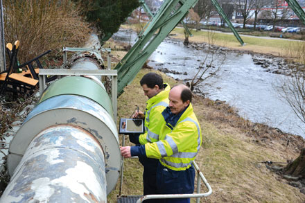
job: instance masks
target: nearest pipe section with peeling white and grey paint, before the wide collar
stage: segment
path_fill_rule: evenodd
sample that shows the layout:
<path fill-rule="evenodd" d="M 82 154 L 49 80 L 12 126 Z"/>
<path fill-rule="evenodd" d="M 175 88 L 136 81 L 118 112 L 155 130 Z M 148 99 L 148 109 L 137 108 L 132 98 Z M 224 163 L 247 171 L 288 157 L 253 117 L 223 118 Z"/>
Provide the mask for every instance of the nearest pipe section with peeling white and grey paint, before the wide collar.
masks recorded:
<path fill-rule="evenodd" d="M 107 202 L 106 197 L 101 145 L 78 126 L 54 125 L 30 142 L 1 202 Z"/>

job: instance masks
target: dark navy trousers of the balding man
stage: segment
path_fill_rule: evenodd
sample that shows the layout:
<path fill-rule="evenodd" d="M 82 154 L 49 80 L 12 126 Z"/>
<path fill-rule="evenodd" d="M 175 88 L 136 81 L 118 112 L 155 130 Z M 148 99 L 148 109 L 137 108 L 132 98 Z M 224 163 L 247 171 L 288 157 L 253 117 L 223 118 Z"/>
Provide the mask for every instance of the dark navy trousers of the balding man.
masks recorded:
<path fill-rule="evenodd" d="M 195 169 L 193 165 L 186 170 L 171 170 L 158 164 L 157 167 L 157 192 L 159 194 L 193 194 Z M 164 199 L 160 203 L 189 203 L 189 198 Z"/>

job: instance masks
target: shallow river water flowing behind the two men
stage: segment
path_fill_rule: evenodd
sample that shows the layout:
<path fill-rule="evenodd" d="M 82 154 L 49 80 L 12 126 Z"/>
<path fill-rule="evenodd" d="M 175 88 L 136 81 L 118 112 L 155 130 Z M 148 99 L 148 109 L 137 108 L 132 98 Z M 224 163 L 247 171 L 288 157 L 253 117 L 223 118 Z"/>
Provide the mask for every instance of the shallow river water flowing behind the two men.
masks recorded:
<path fill-rule="evenodd" d="M 119 30 L 113 36 L 117 41 L 130 44 L 134 44 L 136 37 L 135 33 L 126 30 Z M 150 56 L 148 65 L 154 69 L 166 68 L 170 71 L 167 73 L 168 76 L 188 80 L 197 73 L 206 56 L 206 51 L 187 47 L 178 40 L 166 38 Z M 217 69 L 223 58 L 224 54 L 214 55 L 214 69 Z M 286 80 L 289 76 L 266 71 L 254 63 L 254 58 L 270 60 L 262 55 L 225 51 L 225 62 L 220 67 L 220 71 L 216 76 L 204 80 L 198 85 L 198 89 L 212 100 L 226 101 L 238 109 L 238 114 L 243 118 L 305 137 L 304 123 L 297 118 L 293 109 L 279 96 L 277 90 L 281 87 L 280 81 Z M 211 60 L 211 55 L 208 60 Z"/>

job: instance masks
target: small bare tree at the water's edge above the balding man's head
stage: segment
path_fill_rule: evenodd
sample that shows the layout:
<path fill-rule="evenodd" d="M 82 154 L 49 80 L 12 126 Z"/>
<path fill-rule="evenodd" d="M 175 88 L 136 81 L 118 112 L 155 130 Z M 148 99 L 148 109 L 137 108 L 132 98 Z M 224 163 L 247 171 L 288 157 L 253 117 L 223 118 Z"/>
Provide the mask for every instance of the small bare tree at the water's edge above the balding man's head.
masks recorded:
<path fill-rule="evenodd" d="M 220 67 L 223 66 L 225 62 L 226 56 L 218 51 L 218 48 L 214 46 L 214 38 L 215 33 L 209 31 L 208 32 L 208 44 L 207 44 L 207 55 L 205 55 L 203 61 L 201 62 L 197 73 L 191 82 L 187 82 L 188 85 L 193 91 L 196 85 L 199 85 L 201 82 L 216 76 L 216 73 L 220 70 Z M 215 63 L 215 60 L 220 61 L 219 64 Z"/>

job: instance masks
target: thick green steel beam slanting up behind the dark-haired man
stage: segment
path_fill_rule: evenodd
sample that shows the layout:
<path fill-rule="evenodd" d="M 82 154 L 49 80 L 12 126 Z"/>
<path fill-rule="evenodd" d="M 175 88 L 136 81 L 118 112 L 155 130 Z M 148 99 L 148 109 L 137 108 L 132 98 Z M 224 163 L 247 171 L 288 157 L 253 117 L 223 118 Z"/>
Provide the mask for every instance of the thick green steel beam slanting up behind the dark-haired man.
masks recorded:
<path fill-rule="evenodd" d="M 189 9 L 197 1 L 168 0 L 162 4 L 148 28 L 142 35 L 139 35 L 139 40 L 115 67 L 118 71 L 118 94 L 121 94 L 123 88 L 137 76 L 137 73 L 153 51 L 171 33 L 173 28 L 182 21 Z"/>

